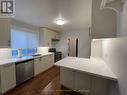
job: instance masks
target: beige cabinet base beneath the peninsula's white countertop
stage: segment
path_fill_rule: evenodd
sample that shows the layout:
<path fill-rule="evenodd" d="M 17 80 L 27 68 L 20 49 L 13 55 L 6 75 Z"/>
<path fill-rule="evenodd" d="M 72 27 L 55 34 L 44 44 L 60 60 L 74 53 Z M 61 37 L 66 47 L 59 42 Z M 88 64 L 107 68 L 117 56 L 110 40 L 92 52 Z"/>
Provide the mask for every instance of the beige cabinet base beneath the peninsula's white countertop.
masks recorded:
<path fill-rule="evenodd" d="M 108 80 L 80 71 L 61 67 L 60 83 L 83 95 L 108 95 Z"/>

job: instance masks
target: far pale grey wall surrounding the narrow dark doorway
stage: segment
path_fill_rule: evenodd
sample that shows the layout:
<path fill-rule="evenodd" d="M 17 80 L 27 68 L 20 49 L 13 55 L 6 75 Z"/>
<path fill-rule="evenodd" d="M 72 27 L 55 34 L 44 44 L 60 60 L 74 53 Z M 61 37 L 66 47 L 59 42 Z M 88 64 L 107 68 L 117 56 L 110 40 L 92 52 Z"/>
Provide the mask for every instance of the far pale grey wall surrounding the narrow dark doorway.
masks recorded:
<path fill-rule="evenodd" d="M 61 32 L 60 42 L 56 45 L 58 51 L 62 51 L 63 56 L 68 55 L 68 38 L 78 37 L 79 38 L 79 57 L 89 58 L 90 57 L 90 38 L 89 29 L 85 30 L 70 30 Z"/>

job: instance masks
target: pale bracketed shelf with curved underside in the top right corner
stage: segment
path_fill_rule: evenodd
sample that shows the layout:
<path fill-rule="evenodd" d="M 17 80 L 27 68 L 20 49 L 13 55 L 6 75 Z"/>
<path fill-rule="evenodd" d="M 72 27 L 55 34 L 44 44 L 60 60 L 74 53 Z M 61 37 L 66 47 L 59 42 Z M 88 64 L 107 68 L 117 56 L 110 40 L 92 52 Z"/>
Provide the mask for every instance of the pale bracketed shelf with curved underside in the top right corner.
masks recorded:
<path fill-rule="evenodd" d="M 122 11 L 123 3 L 125 0 L 102 0 L 100 9 L 112 9 L 119 13 Z"/>

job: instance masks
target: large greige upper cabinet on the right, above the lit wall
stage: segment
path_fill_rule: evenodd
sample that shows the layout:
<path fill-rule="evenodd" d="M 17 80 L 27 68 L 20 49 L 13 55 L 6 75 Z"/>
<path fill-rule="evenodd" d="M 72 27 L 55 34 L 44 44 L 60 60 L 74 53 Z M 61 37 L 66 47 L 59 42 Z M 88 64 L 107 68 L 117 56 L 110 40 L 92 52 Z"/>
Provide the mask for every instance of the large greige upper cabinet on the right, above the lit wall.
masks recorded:
<path fill-rule="evenodd" d="M 114 1 L 106 3 L 107 0 L 92 1 L 92 38 L 114 38 L 117 31 L 117 13 L 105 4 L 113 4 Z M 100 9 L 101 7 L 101 9 Z"/>

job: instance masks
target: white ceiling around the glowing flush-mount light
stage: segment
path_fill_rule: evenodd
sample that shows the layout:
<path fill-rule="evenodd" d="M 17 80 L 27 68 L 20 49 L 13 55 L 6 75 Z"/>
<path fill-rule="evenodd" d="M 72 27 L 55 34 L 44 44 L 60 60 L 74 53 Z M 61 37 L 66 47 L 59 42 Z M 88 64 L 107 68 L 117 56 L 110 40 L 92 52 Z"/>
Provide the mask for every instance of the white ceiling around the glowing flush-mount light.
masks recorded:
<path fill-rule="evenodd" d="M 91 26 L 92 0 L 15 0 L 15 19 L 55 30 L 84 29 Z M 65 20 L 58 26 L 54 21 Z"/>

